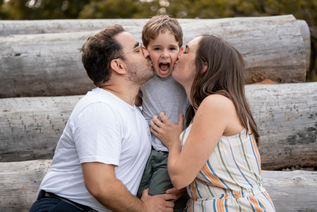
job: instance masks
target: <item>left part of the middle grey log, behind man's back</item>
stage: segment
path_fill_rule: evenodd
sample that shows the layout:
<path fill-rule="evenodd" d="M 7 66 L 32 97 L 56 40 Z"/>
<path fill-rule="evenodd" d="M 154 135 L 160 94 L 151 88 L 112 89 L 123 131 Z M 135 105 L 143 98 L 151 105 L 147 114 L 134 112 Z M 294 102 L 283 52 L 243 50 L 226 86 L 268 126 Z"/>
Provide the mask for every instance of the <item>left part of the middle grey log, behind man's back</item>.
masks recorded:
<path fill-rule="evenodd" d="M 0 161 L 52 159 L 82 96 L 0 99 Z"/>

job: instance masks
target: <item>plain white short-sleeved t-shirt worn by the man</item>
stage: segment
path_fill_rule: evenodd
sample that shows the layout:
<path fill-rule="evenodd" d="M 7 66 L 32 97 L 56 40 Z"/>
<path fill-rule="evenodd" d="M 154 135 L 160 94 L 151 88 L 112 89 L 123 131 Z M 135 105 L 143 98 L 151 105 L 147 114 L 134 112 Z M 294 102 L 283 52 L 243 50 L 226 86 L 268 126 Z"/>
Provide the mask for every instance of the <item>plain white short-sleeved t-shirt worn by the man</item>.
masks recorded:
<path fill-rule="evenodd" d="M 93 89 L 71 113 L 39 191 L 111 211 L 88 192 L 81 163 L 114 164 L 116 178 L 136 195 L 150 152 L 150 128 L 141 110 L 110 92 Z"/>

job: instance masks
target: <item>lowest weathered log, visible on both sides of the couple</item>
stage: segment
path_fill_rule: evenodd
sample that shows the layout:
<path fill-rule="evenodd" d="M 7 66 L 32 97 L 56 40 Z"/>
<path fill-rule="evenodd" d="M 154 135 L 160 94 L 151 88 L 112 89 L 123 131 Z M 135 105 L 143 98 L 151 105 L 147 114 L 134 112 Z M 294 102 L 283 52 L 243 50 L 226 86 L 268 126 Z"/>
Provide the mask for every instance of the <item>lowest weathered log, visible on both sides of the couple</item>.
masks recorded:
<path fill-rule="evenodd" d="M 0 211 L 29 211 L 50 162 L 0 163 Z M 263 187 L 270 195 L 276 211 L 315 211 L 316 177 L 317 172 L 311 171 L 262 171 Z M 186 201 L 186 198 L 178 201 L 174 211 L 183 211 Z"/>

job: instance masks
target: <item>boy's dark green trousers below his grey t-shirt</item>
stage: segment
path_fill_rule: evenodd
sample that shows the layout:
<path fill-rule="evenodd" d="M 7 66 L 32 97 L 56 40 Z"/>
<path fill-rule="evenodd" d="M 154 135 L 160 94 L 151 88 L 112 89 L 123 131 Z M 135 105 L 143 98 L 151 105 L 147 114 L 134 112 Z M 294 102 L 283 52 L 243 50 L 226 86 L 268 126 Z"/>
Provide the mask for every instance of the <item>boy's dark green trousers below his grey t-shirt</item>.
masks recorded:
<path fill-rule="evenodd" d="M 165 194 L 167 189 L 173 188 L 167 172 L 167 156 L 168 152 L 156 151 L 152 148 L 137 193 L 139 198 L 146 188 L 149 188 L 150 196 Z"/>

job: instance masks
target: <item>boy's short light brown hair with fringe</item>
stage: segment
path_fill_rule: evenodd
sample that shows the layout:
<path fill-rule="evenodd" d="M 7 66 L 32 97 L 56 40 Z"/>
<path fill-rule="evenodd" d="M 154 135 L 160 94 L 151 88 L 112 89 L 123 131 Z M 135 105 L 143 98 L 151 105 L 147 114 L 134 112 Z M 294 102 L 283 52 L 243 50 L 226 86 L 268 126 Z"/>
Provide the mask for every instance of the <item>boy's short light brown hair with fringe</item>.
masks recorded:
<path fill-rule="evenodd" d="M 178 21 L 168 15 L 156 15 L 152 17 L 142 29 L 142 42 L 145 47 L 150 39 L 154 40 L 159 33 L 165 33 L 169 30 L 178 42 L 179 48 L 183 45 L 183 31 Z"/>

